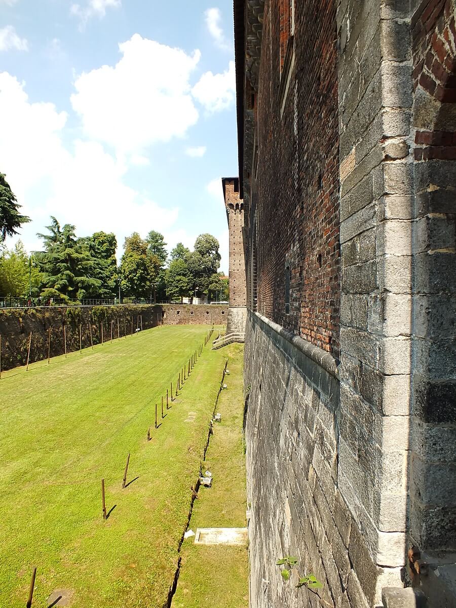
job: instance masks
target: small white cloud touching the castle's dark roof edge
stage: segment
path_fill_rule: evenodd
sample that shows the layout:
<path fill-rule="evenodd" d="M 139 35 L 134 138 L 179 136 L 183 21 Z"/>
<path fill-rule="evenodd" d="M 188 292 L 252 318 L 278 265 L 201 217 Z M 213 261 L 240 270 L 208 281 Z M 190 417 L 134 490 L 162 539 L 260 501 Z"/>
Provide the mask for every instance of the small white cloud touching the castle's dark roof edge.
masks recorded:
<path fill-rule="evenodd" d="M 192 89 L 193 97 L 208 112 L 219 112 L 229 108 L 236 98 L 236 75 L 234 61 L 230 61 L 223 74 L 205 72 Z"/>

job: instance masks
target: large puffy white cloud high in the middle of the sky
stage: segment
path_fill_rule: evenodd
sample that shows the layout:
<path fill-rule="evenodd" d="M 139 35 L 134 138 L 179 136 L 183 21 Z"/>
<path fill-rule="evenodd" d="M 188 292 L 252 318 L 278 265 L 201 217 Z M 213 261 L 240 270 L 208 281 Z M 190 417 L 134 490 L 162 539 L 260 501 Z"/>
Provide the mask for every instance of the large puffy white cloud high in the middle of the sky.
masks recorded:
<path fill-rule="evenodd" d="M 117 154 L 141 154 L 156 142 L 184 136 L 198 120 L 189 78 L 201 54 L 187 55 L 134 34 L 122 58 L 75 80 L 71 103 L 87 136 Z"/>

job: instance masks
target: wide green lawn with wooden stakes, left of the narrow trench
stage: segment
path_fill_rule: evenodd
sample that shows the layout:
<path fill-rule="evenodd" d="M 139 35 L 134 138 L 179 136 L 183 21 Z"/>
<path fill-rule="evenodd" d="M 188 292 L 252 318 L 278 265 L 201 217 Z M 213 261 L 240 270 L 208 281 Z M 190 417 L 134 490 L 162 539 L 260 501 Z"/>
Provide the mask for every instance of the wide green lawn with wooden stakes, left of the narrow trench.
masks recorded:
<path fill-rule="evenodd" d="M 206 331 L 159 327 L 2 373 L 0 606 L 25 606 L 33 566 L 33 606 L 55 589 L 71 590 L 74 608 L 164 606 L 224 351 L 204 348 L 157 430 L 154 404 Z"/>

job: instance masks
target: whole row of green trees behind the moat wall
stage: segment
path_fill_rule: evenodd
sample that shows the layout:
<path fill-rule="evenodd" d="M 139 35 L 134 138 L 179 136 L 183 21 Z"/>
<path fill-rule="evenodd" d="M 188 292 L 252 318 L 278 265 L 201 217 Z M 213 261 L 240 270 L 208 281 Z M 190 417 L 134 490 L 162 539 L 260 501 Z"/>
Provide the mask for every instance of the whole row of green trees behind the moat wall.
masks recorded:
<path fill-rule="evenodd" d="M 27 254 L 21 241 L 13 249 L 5 237 L 30 221 L 19 213 L 15 196 L 0 173 L 0 296 L 44 302 L 85 299 L 123 301 L 181 301 L 188 297 L 228 299 L 227 280 L 218 272 L 219 243 L 201 234 L 193 251 L 178 243 L 168 255 L 167 243 L 156 230 L 142 239 L 134 232 L 125 239 L 117 264 L 116 235 L 94 232 L 77 237 L 75 226 L 61 226 L 51 216 L 46 233 L 39 233 L 43 250 Z"/>

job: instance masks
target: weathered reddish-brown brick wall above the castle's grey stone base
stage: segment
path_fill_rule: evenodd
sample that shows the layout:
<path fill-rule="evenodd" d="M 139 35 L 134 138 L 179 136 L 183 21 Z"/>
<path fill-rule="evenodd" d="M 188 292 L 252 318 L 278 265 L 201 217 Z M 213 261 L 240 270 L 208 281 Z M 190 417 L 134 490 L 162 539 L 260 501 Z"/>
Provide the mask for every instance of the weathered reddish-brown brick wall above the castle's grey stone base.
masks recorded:
<path fill-rule="evenodd" d="M 295 3 L 295 60 L 284 95 L 288 4 L 271 0 L 264 10 L 255 106 L 258 166 L 252 175 L 258 193 L 257 309 L 338 356 L 336 7 L 333 0 Z"/>

